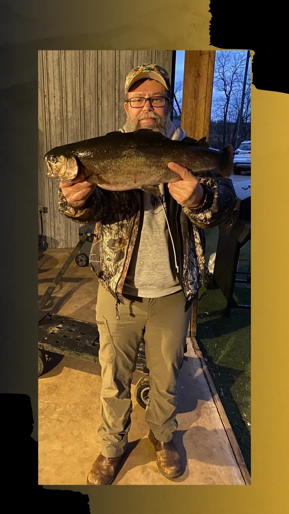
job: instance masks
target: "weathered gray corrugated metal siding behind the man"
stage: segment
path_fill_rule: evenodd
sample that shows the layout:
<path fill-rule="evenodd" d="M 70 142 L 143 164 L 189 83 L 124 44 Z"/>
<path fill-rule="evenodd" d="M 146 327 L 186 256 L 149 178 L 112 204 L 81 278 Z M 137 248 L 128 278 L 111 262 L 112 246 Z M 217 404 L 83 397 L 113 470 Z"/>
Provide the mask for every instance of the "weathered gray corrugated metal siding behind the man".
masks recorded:
<path fill-rule="evenodd" d="M 171 50 L 38 52 L 38 203 L 48 207 L 43 224 L 49 248 L 73 248 L 79 241 L 79 225 L 57 210 L 59 181 L 44 177 L 43 156 L 54 146 L 119 130 L 125 123 L 128 71 L 156 63 L 171 72 L 171 62 Z"/>

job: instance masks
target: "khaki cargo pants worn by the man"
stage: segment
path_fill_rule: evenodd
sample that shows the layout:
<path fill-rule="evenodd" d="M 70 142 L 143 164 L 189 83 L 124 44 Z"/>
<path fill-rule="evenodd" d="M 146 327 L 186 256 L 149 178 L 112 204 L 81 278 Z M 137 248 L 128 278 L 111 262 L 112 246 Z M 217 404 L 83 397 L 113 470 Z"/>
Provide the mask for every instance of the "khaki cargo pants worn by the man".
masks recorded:
<path fill-rule="evenodd" d="M 192 309 L 185 313 L 183 291 L 161 298 L 126 297 L 115 317 L 115 299 L 101 285 L 96 321 L 102 368 L 101 417 L 98 434 L 105 457 L 121 455 L 131 425 L 131 379 L 143 338 L 149 369 L 148 427 L 168 442 L 177 429 L 178 377 Z"/>

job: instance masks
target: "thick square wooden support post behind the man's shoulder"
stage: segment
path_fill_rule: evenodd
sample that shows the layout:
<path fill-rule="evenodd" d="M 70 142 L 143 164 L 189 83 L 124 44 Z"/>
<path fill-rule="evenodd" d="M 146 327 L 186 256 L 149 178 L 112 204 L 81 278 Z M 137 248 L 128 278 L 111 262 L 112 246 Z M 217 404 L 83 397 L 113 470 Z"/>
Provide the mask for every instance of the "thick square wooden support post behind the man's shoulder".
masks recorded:
<path fill-rule="evenodd" d="M 181 127 L 209 141 L 215 50 L 185 50 Z"/>

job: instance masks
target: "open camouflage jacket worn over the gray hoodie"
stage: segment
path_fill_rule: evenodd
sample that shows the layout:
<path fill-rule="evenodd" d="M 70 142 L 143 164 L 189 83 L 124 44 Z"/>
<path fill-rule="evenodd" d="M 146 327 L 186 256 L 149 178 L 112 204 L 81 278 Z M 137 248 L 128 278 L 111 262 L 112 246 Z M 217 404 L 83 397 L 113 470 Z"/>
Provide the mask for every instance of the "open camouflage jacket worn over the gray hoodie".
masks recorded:
<path fill-rule="evenodd" d="M 168 223 L 179 267 L 179 273 L 175 272 L 186 298 L 186 310 L 205 278 L 203 229 L 225 221 L 236 205 L 230 180 L 206 172 L 201 175 L 200 182 L 204 201 L 195 209 L 181 207 L 165 184 Z M 140 225 L 142 195 L 141 190 L 107 191 L 97 187 L 85 204 L 77 208 L 67 203 L 59 189 L 58 208 L 64 216 L 83 225 L 95 223 L 89 263 L 99 283 L 113 295 L 117 304 L 123 303 L 122 288 Z M 170 240 L 169 251 L 171 268 L 175 270 Z"/>

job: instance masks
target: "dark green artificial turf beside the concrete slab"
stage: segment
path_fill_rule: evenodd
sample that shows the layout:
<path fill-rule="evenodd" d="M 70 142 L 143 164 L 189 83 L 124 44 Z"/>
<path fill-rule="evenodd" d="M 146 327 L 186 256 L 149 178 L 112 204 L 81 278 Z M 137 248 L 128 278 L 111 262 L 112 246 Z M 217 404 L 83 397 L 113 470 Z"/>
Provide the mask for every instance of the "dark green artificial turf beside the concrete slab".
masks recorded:
<path fill-rule="evenodd" d="M 218 235 L 218 227 L 205 230 L 207 263 L 210 254 L 217 250 Z M 246 272 L 250 260 L 249 241 L 241 249 L 238 270 Z M 238 303 L 251 304 L 250 286 L 236 284 L 234 293 Z M 196 339 L 250 472 L 251 309 L 234 308 L 230 317 L 225 318 L 225 307 L 226 299 L 220 289 L 202 288 Z"/>

